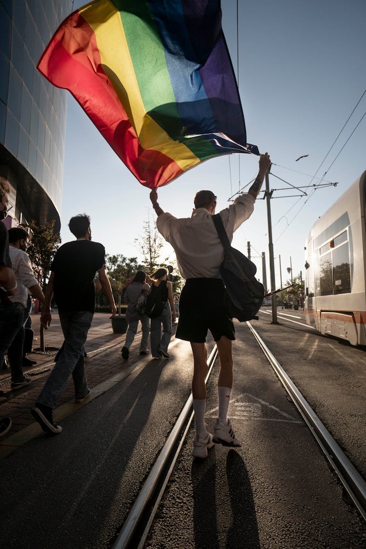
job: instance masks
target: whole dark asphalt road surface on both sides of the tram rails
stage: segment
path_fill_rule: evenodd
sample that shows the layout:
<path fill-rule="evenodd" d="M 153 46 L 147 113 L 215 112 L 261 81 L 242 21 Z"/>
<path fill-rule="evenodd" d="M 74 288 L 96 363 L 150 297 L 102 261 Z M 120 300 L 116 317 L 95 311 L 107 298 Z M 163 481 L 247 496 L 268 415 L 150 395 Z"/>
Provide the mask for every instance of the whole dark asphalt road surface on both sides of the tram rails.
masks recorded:
<path fill-rule="evenodd" d="M 302 323 L 301 314 L 292 320 Z M 254 326 L 364 472 L 364 351 L 270 320 L 263 309 Z M 365 523 L 246 324 L 237 324 L 234 363 L 230 418 L 242 447 L 216 445 L 194 460 L 190 430 L 147 546 L 365 547 Z M 62 434 L 42 434 L 2 460 L 0 547 L 110 547 L 187 400 L 191 375 L 189 344 L 179 342 L 170 360 L 139 362 L 67 417 Z M 207 384 L 211 428 L 217 376 L 216 363 Z"/>

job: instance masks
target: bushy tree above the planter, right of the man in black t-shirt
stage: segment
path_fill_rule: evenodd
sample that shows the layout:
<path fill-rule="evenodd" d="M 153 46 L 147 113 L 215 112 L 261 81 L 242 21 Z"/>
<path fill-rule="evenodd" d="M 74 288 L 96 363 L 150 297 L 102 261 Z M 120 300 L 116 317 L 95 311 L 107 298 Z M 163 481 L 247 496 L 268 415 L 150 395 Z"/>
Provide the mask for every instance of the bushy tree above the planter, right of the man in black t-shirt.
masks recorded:
<path fill-rule="evenodd" d="M 108 274 L 114 299 L 118 304 L 118 314 L 121 316 L 121 297 L 123 289 L 128 282 L 136 275 L 137 271 L 143 271 L 138 264 L 137 257 L 125 257 L 122 254 L 106 255 L 106 272 Z"/>

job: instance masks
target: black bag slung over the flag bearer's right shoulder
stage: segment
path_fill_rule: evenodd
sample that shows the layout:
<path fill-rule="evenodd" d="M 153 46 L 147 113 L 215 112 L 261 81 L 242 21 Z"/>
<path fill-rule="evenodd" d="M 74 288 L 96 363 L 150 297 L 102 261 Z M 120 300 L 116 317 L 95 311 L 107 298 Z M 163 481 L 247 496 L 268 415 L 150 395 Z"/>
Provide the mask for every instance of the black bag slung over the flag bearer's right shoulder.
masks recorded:
<path fill-rule="evenodd" d="M 219 272 L 226 288 L 225 305 L 230 318 L 239 322 L 258 320 L 264 298 L 264 286 L 255 278 L 257 267 L 239 250 L 232 248 L 221 216 L 212 216 L 217 234 L 224 247 L 224 259 Z"/>

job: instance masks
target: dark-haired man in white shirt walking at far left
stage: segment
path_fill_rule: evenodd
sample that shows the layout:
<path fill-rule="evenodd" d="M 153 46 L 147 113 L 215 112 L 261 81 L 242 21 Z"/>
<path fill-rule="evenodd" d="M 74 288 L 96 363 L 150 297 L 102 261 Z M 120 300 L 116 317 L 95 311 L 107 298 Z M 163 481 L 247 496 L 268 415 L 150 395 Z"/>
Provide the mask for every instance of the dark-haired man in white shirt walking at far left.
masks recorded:
<path fill-rule="evenodd" d="M 29 240 L 29 234 L 23 227 L 13 227 L 9 229 L 9 255 L 12 260 L 15 280 L 18 283 L 16 293 L 10 296 L 13 307 L 21 309 L 22 315 L 19 318 L 16 335 L 8 349 L 8 359 L 10 370 L 12 372 L 12 389 L 19 389 L 31 382 L 29 376 L 25 376 L 22 371 L 23 345 L 24 345 L 24 322 L 25 311 L 27 307 L 28 290 L 31 295 L 39 299 L 42 303 L 44 295 L 40 284 L 33 273 L 33 268 L 26 247 Z"/>

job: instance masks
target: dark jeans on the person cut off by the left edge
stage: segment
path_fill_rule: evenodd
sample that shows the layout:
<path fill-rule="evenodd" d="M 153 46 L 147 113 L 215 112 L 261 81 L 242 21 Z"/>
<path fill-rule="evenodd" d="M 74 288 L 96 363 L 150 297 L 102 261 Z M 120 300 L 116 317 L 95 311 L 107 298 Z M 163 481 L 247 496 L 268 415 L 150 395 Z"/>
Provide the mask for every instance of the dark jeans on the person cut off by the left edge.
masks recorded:
<path fill-rule="evenodd" d="M 21 363 L 24 345 L 24 306 L 13 303 L 8 307 L 0 305 L 0 365 L 3 365 L 5 351 L 8 350 L 12 383 L 23 378 Z"/>

